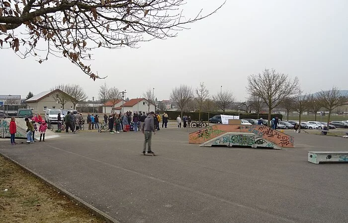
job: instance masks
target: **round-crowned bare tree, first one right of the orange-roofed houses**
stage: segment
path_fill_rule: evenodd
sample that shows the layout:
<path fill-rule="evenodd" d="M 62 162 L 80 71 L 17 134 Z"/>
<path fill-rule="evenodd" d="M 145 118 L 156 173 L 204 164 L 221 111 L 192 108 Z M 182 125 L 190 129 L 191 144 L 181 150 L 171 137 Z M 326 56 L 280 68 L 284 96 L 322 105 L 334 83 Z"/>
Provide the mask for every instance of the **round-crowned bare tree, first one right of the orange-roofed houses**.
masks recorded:
<path fill-rule="evenodd" d="M 180 87 L 175 87 L 172 90 L 170 98 L 171 101 L 180 108 L 182 118 L 183 109 L 193 98 L 192 88 L 187 85 L 180 85 Z"/>

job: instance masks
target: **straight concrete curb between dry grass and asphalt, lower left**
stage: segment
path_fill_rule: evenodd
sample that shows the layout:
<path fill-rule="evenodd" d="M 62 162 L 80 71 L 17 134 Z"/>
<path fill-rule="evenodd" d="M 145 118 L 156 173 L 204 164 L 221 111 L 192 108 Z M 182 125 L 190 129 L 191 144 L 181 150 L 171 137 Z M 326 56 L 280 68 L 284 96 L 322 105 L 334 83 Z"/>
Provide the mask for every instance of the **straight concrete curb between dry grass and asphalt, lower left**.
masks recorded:
<path fill-rule="evenodd" d="M 97 218 L 101 219 L 102 221 L 106 222 L 106 223 L 119 223 L 116 219 L 106 215 L 105 213 L 101 212 L 100 210 L 94 208 L 93 206 L 91 206 L 90 204 L 88 204 L 87 202 L 83 201 L 82 199 L 80 199 L 79 197 L 71 194 L 70 192 L 64 190 L 63 188 L 55 185 L 53 182 L 49 181 L 48 179 L 46 179 L 45 177 L 41 176 L 40 174 L 36 173 L 35 171 L 29 169 L 28 167 L 25 167 L 21 164 L 19 164 L 17 161 L 12 160 L 11 158 L 7 157 L 6 155 L 3 155 L 0 153 L 0 155 L 5 158 L 6 160 L 9 160 L 10 162 L 12 162 L 13 164 L 21 167 L 24 171 L 26 171 L 27 173 L 35 176 L 36 178 L 38 178 L 39 180 L 41 180 L 42 182 L 44 182 L 45 184 L 47 184 L 48 186 L 52 187 L 53 189 L 59 191 L 61 194 L 65 195 L 66 197 L 68 197 L 70 200 L 78 203 L 79 205 L 81 205 L 82 207 L 84 207 L 85 209 L 87 209 L 89 212 L 91 212 L 93 215 L 95 215 Z"/>

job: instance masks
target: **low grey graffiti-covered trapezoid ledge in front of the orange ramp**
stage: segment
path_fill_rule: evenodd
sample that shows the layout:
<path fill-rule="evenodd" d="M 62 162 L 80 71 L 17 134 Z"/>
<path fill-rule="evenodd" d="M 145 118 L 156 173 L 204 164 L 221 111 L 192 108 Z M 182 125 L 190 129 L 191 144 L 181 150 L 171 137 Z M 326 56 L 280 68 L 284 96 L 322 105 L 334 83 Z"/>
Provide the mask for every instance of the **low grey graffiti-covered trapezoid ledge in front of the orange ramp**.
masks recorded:
<path fill-rule="evenodd" d="M 227 132 L 219 135 L 213 139 L 210 139 L 200 146 L 212 147 L 212 146 L 224 146 L 224 147 L 240 147 L 248 146 L 252 148 L 270 148 L 278 149 L 281 147 L 276 144 L 263 139 L 261 136 L 254 133 L 241 133 L 241 132 Z"/>

